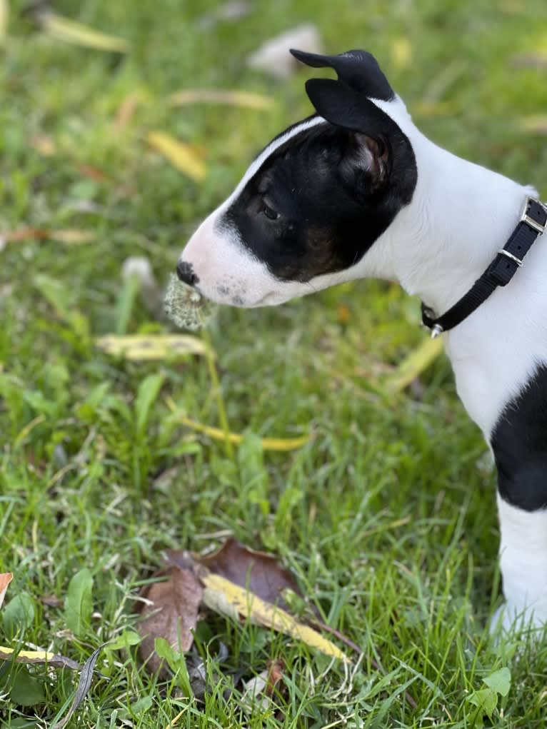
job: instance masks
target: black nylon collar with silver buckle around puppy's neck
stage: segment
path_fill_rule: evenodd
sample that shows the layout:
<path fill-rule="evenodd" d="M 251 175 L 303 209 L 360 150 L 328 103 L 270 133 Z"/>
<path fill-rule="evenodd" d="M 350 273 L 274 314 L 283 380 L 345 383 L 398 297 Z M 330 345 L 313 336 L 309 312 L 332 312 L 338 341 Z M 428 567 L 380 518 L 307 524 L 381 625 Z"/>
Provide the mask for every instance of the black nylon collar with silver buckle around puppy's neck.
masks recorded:
<path fill-rule="evenodd" d="M 497 289 L 507 286 L 522 260 L 532 247 L 538 235 L 547 229 L 547 207 L 534 198 L 526 198 L 519 222 L 507 243 L 497 252 L 497 256 L 478 278 L 467 294 L 464 294 L 449 311 L 435 317 L 435 312 L 422 302 L 422 324 L 431 330 L 435 339 L 463 321 Z"/>

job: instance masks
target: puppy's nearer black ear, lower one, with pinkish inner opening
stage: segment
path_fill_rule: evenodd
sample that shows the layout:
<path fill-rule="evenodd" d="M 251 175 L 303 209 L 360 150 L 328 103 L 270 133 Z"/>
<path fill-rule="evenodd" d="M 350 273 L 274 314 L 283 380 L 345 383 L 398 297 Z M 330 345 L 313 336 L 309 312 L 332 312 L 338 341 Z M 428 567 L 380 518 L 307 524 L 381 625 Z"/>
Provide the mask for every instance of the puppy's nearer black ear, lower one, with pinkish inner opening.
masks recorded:
<path fill-rule="evenodd" d="M 391 168 L 392 120 L 376 104 L 341 81 L 309 79 L 306 91 L 320 117 L 351 132 L 351 144 L 341 165 L 344 175 L 365 171 L 373 187 L 381 187 Z"/>

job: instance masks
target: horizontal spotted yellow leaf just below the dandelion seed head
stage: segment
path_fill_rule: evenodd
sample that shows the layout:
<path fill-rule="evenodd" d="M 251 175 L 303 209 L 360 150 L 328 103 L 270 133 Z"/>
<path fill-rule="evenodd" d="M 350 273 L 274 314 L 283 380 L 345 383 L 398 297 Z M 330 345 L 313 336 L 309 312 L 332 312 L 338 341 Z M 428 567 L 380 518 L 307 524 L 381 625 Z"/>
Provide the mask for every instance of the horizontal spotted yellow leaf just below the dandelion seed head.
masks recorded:
<path fill-rule="evenodd" d="M 123 356 L 133 362 L 174 359 L 188 354 L 208 354 L 208 348 L 198 337 L 185 334 L 106 335 L 95 340 L 106 354 Z"/>

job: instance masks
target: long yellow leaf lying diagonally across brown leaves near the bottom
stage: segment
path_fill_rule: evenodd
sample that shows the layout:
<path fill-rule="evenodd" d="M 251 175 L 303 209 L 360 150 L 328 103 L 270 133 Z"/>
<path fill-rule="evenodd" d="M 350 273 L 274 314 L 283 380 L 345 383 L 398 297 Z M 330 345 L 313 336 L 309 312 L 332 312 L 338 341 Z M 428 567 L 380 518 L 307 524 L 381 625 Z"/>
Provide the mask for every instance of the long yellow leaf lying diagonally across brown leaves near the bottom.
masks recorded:
<path fill-rule="evenodd" d="M 340 658 L 349 662 L 346 654 L 338 646 L 335 646 L 332 641 L 324 638 L 320 633 L 310 628 L 309 625 L 298 623 L 298 620 L 285 610 L 265 602 L 249 590 L 240 588 L 239 585 L 234 585 L 225 577 L 220 577 L 220 574 L 214 574 L 207 569 L 201 568 L 198 570 L 198 576 L 205 585 L 203 602 L 208 607 L 213 609 L 217 607 L 218 596 L 220 595 L 226 603 L 237 610 L 239 615 L 250 617 L 251 620 L 264 625 L 266 628 L 274 628 L 280 633 L 301 640 L 311 648 L 317 648 L 317 650 L 333 658 Z"/>

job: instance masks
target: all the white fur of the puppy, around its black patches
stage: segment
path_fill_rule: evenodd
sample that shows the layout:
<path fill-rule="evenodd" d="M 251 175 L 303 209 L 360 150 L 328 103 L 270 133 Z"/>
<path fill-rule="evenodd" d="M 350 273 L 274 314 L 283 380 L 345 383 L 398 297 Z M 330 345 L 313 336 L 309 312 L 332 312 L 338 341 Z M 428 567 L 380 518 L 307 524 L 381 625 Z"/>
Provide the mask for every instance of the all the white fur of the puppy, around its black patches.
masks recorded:
<path fill-rule="evenodd" d="M 400 98 L 373 101 L 411 141 L 418 181 L 411 204 L 397 214 L 362 260 L 309 284 L 281 282 L 233 233 L 215 227 L 271 152 L 306 126 L 324 122 L 315 118 L 266 148 L 230 198 L 191 238 L 183 260 L 192 263 L 201 292 L 220 303 L 260 306 L 374 276 L 399 281 L 409 294 L 441 314 L 470 289 L 505 244 L 525 198 L 535 190 L 437 147 L 414 126 Z M 547 235 L 543 235 L 508 286 L 497 289 L 468 319 L 443 335 L 459 397 L 487 440 L 503 408 L 519 394 L 538 362 L 547 362 L 546 271 Z M 521 612 L 535 623 L 546 622 L 547 512 L 524 512 L 501 499 L 498 507 L 508 600 L 504 625 Z"/>

